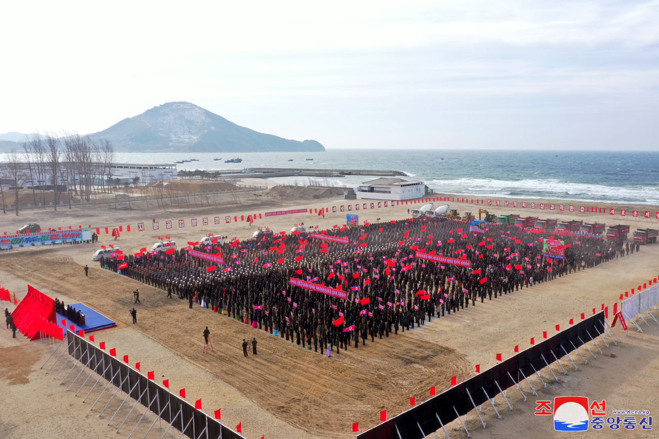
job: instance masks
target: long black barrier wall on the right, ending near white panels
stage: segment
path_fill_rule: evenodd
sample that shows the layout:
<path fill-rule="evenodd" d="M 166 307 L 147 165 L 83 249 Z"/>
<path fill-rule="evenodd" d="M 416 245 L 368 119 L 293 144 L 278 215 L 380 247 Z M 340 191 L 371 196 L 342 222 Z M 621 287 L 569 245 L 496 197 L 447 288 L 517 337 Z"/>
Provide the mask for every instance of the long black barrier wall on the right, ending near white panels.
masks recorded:
<path fill-rule="evenodd" d="M 457 416 L 473 410 L 474 405 L 488 402 L 488 396 L 493 398 L 500 394 L 500 388 L 505 390 L 515 386 L 524 380 L 524 376 L 531 376 L 535 370 L 546 367 L 545 360 L 551 364 L 556 361 L 554 355 L 561 359 L 565 353 L 574 351 L 600 334 L 604 334 L 604 312 L 590 316 L 400 415 L 387 419 L 358 434 L 357 439 L 422 439 L 442 428 L 439 419 L 444 425 L 450 424 Z"/>

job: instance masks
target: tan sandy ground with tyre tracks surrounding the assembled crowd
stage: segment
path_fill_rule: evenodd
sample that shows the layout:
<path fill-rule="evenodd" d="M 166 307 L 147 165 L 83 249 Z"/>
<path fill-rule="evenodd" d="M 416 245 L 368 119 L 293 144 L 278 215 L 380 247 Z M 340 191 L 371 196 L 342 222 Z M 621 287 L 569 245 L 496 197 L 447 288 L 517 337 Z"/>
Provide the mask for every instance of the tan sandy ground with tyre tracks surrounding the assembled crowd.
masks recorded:
<path fill-rule="evenodd" d="M 196 241 L 208 232 L 246 238 L 260 225 L 270 225 L 279 231 L 289 230 L 300 221 L 306 225 L 318 224 L 320 228 L 345 221 L 345 214 L 337 212 L 329 213 L 324 220 L 309 214 L 296 214 L 268 219 L 267 222 L 257 221 L 251 227 L 240 222 L 203 227 L 200 218 L 204 216 L 209 216 L 212 223 L 214 216 L 223 218 L 229 214 L 247 215 L 280 208 L 320 208 L 355 203 L 331 199 L 322 202 L 253 201 L 254 204 L 249 207 L 244 204 L 237 206 L 229 200 L 222 208 L 168 209 L 167 212 L 69 212 L 60 209 L 56 216 L 52 212 L 30 212 L 34 216 L 21 218 L 18 222 L 50 220 L 57 221 L 55 226 L 92 223 L 94 227 L 131 223 L 135 230 L 134 224 L 138 221 L 150 226 L 153 217 L 162 225 L 165 220 L 180 218 L 186 220 L 187 227 L 178 229 L 175 222 L 175 228 L 169 234 L 185 243 Z M 460 212 L 478 211 L 476 205 L 449 204 Z M 579 203 L 574 204 L 579 206 Z M 405 218 L 408 207 L 358 213 L 360 220 Z M 530 214 L 529 209 L 496 209 L 492 206 L 488 210 L 496 214 Z M 652 208 L 653 214 L 655 210 L 656 207 Z M 541 218 L 550 216 L 565 220 L 583 218 L 613 222 L 608 214 L 550 214 L 545 211 L 543 215 L 538 210 L 532 212 Z M 190 227 L 190 218 L 198 218 L 199 226 Z M 635 229 L 656 227 L 658 221 L 631 217 L 621 221 L 616 217 L 615 222 L 629 223 Z M 15 227 L 15 217 L 7 215 L 0 218 L 0 230 Z M 152 245 L 156 237 L 162 234 L 164 230 L 125 233 L 117 245 L 135 251 Z M 114 241 L 101 235 L 99 245 L 108 243 Z M 365 347 L 341 351 L 340 355 L 328 359 L 279 337 L 248 328 L 226 316 L 212 314 L 204 308 L 189 310 L 186 303 L 167 299 L 163 291 L 100 270 L 90 260 L 97 248 L 84 244 L 3 251 L 0 254 L 0 285 L 20 298 L 25 295 L 26 282 L 29 282 L 52 297 L 63 298 L 67 303 L 82 301 L 113 318 L 118 327 L 97 332 L 97 341 L 106 341 L 108 347 L 117 347 L 120 355 L 128 354 L 131 363 L 140 361 L 142 370 L 156 370 L 156 377 L 169 378 L 173 390 L 185 387 L 188 400 L 202 398 L 207 413 L 221 408 L 223 422 L 232 428 L 242 422 L 244 435 L 250 439 L 262 435 L 266 438 L 353 437 L 353 422 L 360 422 L 360 430 L 374 426 L 378 423 L 380 410 L 386 409 L 391 415 L 400 413 L 409 407 L 409 397 L 415 396 L 418 402 L 423 401 L 428 397 L 431 386 L 437 386 L 439 392 L 447 388 L 450 376 L 457 375 L 459 380 L 463 380 L 473 374 L 474 365 L 480 364 L 482 368 L 493 365 L 496 353 L 511 355 L 514 345 L 525 347 L 530 337 L 542 337 L 543 330 L 553 331 L 555 324 L 566 325 L 569 318 L 578 319 L 580 312 L 588 313 L 593 307 L 599 308 L 601 303 L 612 305 L 620 293 L 659 275 L 659 245 L 645 246 L 639 254 L 523 289 L 491 302 L 477 303 L 476 307 L 461 310 L 450 318 L 433 320 L 423 328 L 405 334 L 399 332 L 386 342 L 378 339 L 374 343 L 369 341 Z M 84 277 L 84 264 L 92 267 L 89 278 Z M 132 306 L 131 292 L 135 287 L 140 287 L 142 305 L 138 305 L 138 324 L 132 325 L 127 310 Z M 12 308 L 9 307 L 10 310 Z M 509 390 L 509 400 L 515 407 L 513 411 L 508 411 L 503 399 L 498 397 L 496 406 L 503 416 L 502 421 L 496 419 L 492 407 L 483 406 L 484 421 L 488 425 L 485 430 L 473 411 L 467 420 L 472 437 L 526 438 L 529 431 L 543 438 L 567 437 L 567 434 L 554 432 L 550 417 L 533 415 L 536 399 L 550 399 L 554 395 L 605 398 L 609 413 L 611 409 L 648 409 L 651 414 L 657 413 L 659 385 L 655 371 L 659 366 L 656 355 L 659 328 L 654 322 L 650 324 L 649 328 L 644 325 L 643 334 L 630 330 L 623 335 L 617 330 L 623 342 L 617 347 L 612 345 L 611 349 L 604 349 L 603 343 L 599 343 L 605 355 L 600 355 L 591 346 L 598 358 L 588 361 L 588 365 L 583 365 L 581 358 L 573 355 L 579 370 L 573 371 L 571 363 L 563 361 L 569 373 L 559 377 L 558 383 L 550 382 L 552 375 L 548 370 L 543 370 L 542 378 L 549 384 L 546 389 L 542 388 L 539 378 L 531 380 L 540 397 L 530 395 L 530 388 L 526 385 L 523 390 L 529 395 L 527 402 L 521 401 L 517 390 Z M 207 355 L 202 354 L 201 332 L 205 326 L 210 327 L 215 348 Z M 106 425 L 107 421 L 99 420 L 98 407 L 90 412 L 90 404 L 82 403 L 82 395 L 74 397 L 74 392 L 65 390 L 68 386 L 58 386 L 61 376 L 53 380 L 39 370 L 47 357 L 46 347 L 38 342 L 30 343 L 22 337 L 11 339 L 9 331 L 5 334 L 0 337 L 0 392 L 7 395 L 3 399 L 13 403 L 0 411 L 2 437 L 59 437 L 84 430 L 87 437 L 95 438 L 110 436 L 116 430 L 116 421 L 112 424 L 115 427 L 113 430 Z M 254 336 L 259 339 L 259 355 L 245 359 L 241 353 L 241 339 Z M 610 342 L 610 339 L 607 338 L 607 341 Z M 585 349 L 580 349 L 580 352 L 590 357 Z M 617 357 L 611 358 L 610 352 L 616 353 Z M 559 372 L 556 365 L 552 366 L 552 370 L 556 374 Z M 65 384 L 70 382 L 71 378 Z M 103 405 L 107 399 L 103 397 Z M 29 415 L 35 412 L 40 412 L 42 416 Z M 26 422 L 28 416 L 30 419 Z M 103 419 L 109 420 L 109 417 L 104 414 Z M 466 437 L 459 430 L 459 423 L 454 426 L 455 430 L 449 430 L 451 438 Z M 156 430 L 158 428 L 154 428 L 149 437 L 162 434 L 162 430 L 158 430 L 160 434 Z M 605 428 L 587 434 L 654 437 L 652 432 L 641 432 L 638 428 L 624 433 Z"/>

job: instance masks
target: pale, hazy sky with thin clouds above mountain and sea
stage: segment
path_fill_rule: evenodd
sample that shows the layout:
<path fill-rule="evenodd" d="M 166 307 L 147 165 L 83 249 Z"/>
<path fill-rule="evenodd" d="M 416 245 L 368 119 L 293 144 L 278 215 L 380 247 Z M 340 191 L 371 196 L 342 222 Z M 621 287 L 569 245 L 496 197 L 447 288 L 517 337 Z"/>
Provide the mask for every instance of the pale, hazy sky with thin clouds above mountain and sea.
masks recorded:
<path fill-rule="evenodd" d="M 659 150 L 659 1 L 0 6 L 0 132 L 171 101 L 326 148 Z"/>

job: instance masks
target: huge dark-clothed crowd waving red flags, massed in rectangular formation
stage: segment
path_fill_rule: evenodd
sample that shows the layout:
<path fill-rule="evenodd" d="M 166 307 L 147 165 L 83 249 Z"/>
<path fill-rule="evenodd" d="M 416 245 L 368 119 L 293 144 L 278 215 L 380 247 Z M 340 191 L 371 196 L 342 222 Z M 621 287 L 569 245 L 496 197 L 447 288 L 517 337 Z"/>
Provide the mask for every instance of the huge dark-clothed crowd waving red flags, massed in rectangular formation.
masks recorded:
<path fill-rule="evenodd" d="M 422 218 L 335 226 L 326 237 L 348 244 L 281 233 L 260 240 L 236 239 L 194 250 L 224 264 L 172 254 L 103 258 L 101 266 L 252 324 L 320 353 L 359 347 L 463 308 L 482 306 L 529 288 L 625 256 L 622 242 L 577 235 L 556 236 L 564 257 L 548 257 L 534 231 L 488 224 L 469 231 L 468 221 Z M 430 262 L 416 252 L 471 262 L 471 267 Z M 628 254 L 628 252 L 627 252 Z M 461 262 L 464 264 L 464 262 Z M 292 286 L 291 278 L 345 291 L 347 299 Z"/>

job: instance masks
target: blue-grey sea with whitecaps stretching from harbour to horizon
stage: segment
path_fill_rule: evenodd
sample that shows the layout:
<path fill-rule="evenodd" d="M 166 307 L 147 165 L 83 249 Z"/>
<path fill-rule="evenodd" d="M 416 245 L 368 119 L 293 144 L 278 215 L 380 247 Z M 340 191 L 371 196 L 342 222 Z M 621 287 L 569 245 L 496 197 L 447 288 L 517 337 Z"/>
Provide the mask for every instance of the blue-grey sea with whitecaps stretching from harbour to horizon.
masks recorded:
<path fill-rule="evenodd" d="M 224 163 L 237 157 L 243 159 L 242 163 Z M 190 159 L 198 161 L 178 164 L 177 169 L 395 170 L 447 194 L 659 204 L 659 151 L 330 149 L 326 152 L 115 153 L 115 161 L 123 163 L 174 163 Z M 374 178 L 351 175 L 271 180 L 286 185 L 354 188 Z"/>

